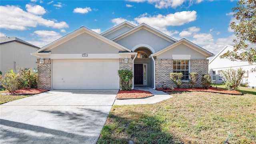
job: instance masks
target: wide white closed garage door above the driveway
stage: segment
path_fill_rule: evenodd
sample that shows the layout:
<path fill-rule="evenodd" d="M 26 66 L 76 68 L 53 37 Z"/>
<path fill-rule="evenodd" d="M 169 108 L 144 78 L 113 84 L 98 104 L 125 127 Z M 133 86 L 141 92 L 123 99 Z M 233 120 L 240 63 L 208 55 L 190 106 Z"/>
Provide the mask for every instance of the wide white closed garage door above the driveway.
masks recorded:
<path fill-rule="evenodd" d="M 53 89 L 119 89 L 119 60 L 53 60 Z"/>

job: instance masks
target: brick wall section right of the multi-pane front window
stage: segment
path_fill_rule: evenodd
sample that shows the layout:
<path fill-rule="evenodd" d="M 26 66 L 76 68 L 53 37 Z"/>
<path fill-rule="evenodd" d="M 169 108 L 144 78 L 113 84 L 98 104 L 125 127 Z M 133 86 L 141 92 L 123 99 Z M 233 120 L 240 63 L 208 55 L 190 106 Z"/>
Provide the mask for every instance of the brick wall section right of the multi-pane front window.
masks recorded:
<path fill-rule="evenodd" d="M 195 87 L 202 87 L 202 77 L 204 74 L 208 74 L 209 60 L 190 60 L 190 72 L 198 73 L 198 80 Z"/>

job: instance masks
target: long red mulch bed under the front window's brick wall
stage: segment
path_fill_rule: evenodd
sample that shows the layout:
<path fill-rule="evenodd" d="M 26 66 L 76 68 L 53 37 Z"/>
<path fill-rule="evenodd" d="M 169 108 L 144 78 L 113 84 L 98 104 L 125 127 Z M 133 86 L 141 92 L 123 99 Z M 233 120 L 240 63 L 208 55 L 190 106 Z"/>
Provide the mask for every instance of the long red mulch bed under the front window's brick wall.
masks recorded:
<path fill-rule="evenodd" d="M 167 90 L 164 90 L 162 88 L 157 88 L 156 90 L 162 90 L 164 92 L 214 92 L 214 93 L 220 93 L 220 94 L 233 94 L 233 95 L 242 95 L 242 92 L 238 92 L 236 90 L 224 90 L 220 88 L 209 88 L 208 90 L 204 88 L 175 88 L 174 90 L 171 90 L 168 88 Z"/>

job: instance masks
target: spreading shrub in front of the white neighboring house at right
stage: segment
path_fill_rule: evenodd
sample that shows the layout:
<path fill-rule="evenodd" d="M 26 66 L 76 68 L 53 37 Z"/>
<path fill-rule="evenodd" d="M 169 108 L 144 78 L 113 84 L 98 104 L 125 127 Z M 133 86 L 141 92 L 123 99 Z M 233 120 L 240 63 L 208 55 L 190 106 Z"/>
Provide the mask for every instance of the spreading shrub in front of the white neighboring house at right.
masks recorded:
<path fill-rule="evenodd" d="M 228 69 L 223 71 L 223 75 L 226 79 L 225 84 L 228 90 L 237 90 L 238 86 L 241 83 L 242 76 L 244 75 L 245 70 L 242 68 L 235 69 Z"/>

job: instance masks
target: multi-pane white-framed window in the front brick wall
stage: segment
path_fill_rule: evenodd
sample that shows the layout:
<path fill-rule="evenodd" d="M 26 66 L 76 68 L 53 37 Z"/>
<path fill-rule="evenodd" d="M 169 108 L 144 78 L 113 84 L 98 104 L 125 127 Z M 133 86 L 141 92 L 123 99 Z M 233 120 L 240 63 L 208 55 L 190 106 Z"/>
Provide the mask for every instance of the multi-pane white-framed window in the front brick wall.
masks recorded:
<path fill-rule="evenodd" d="M 189 78 L 189 60 L 173 60 L 173 72 L 182 73 L 181 80 L 188 80 Z"/>

